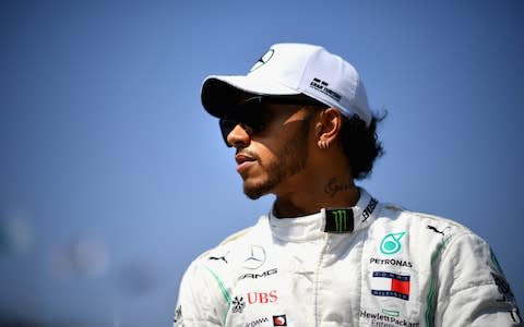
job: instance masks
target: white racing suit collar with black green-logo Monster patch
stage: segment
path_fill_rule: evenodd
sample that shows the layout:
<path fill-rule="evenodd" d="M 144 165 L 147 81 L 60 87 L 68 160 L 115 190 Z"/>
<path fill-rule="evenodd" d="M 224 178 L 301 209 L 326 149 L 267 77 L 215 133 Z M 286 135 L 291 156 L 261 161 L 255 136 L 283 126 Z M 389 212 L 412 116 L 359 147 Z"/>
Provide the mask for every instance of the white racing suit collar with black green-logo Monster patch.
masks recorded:
<path fill-rule="evenodd" d="M 352 233 L 372 220 L 377 199 L 362 187 L 357 204 L 346 208 L 322 208 L 319 213 L 279 219 L 273 210 L 269 220 L 273 235 L 284 241 L 306 242 L 323 238 L 325 233 Z M 343 214 L 344 213 L 344 214 Z"/>

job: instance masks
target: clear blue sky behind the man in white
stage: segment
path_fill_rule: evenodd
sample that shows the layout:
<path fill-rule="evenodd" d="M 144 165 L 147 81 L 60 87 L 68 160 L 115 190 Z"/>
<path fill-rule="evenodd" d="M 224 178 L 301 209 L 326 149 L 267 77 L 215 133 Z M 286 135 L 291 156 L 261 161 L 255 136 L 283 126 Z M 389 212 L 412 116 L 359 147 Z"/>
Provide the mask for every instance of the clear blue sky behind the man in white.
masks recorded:
<path fill-rule="evenodd" d="M 0 312 L 169 326 L 191 259 L 272 203 L 201 83 L 282 41 L 357 66 L 389 112 L 360 184 L 485 238 L 522 307 L 522 1 L 2 1 Z"/>

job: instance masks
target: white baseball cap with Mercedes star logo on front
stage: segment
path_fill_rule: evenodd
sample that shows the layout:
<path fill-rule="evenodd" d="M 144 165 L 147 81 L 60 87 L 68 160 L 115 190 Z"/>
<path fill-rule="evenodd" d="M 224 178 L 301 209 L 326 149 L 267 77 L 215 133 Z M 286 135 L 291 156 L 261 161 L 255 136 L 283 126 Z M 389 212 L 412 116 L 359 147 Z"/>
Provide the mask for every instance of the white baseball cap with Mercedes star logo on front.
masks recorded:
<path fill-rule="evenodd" d="M 324 48 L 306 44 L 273 45 L 247 75 L 211 75 L 202 85 L 202 105 L 222 118 L 241 93 L 261 96 L 305 94 L 369 126 L 372 112 L 357 70 Z"/>

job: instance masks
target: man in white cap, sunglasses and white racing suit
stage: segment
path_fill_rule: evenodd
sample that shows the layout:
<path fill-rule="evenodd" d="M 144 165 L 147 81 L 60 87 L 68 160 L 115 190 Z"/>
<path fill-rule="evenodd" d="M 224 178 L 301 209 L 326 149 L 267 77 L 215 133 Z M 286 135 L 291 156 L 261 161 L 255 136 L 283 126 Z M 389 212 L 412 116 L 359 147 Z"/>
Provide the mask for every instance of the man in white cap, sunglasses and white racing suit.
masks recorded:
<path fill-rule="evenodd" d="M 348 62 L 274 45 L 246 76 L 207 77 L 202 104 L 236 149 L 246 195 L 276 198 L 191 264 L 175 326 L 521 324 L 484 240 L 355 185 L 382 146 Z"/>

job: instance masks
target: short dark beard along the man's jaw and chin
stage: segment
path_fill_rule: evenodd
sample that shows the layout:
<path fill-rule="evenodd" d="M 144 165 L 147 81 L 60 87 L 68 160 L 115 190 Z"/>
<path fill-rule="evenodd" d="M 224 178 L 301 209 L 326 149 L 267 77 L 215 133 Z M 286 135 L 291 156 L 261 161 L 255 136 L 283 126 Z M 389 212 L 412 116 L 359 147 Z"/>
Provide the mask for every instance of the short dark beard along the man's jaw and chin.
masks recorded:
<path fill-rule="evenodd" d="M 271 193 L 278 184 L 286 179 L 299 173 L 306 168 L 308 158 L 309 121 L 300 121 L 295 135 L 284 140 L 284 146 L 275 154 L 277 160 L 271 162 L 266 168 L 267 178 L 255 184 L 243 183 L 243 193 L 251 199 L 257 199 Z M 260 158 L 259 158 L 260 160 Z M 259 161 L 261 162 L 261 161 Z M 263 162 L 261 162 L 263 166 Z"/>

